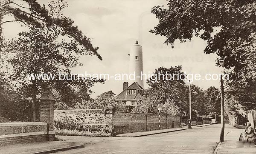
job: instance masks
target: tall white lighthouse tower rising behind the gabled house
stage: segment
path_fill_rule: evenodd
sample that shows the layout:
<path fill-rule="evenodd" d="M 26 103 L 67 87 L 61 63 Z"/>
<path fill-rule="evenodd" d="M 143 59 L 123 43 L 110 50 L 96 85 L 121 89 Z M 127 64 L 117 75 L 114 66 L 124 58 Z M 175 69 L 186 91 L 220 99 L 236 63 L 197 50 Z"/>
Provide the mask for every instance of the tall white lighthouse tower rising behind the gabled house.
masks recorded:
<path fill-rule="evenodd" d="M 129 74 L 135 74 L 135 80 L 131 80 L 131 82 L 137 82 L 142 88 L 144 88 L 143 77 L 141 77 L 141 74 L 143 74 L 142 46 L 138 44 L 138 41 L 131 46 L 129 56 Z"/>

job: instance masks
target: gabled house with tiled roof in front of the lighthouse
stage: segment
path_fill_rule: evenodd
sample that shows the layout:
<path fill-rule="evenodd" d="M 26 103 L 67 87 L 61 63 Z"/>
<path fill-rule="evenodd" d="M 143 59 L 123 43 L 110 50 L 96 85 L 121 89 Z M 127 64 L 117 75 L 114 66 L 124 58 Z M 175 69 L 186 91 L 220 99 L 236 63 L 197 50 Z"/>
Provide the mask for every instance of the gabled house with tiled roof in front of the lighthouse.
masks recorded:
<path fill-rule="evenodd" d="M 128 86 L 128 82 L 123 83 L 123 91 L 116 96 L 115 101 L 122 102 L 126 106 L 137 106 L 138 102 L 141 101 L 140 91 L 143 88 L 134 82 Z"/>

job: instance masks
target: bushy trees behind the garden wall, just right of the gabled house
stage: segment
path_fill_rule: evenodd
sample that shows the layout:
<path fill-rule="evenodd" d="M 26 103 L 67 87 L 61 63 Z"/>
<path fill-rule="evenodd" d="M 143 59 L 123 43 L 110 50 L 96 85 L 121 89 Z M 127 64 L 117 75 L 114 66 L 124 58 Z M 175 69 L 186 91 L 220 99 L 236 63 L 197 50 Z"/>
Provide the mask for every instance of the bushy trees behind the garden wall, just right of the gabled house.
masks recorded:
<path fill-rule="evenodd" d="M 133 111 L 157 114 L 158 108 L 161 108 L 161 112 L 165 114 L 189 114 L 189 86 L 185 85 L 184 79 L 174 77 L 170 80 L 168 75 L 182 74 L 181 66 L 157 68 L 154 74 L 155 76 L 147 80 L 150 87 L 140 92 L 142 101 Z M 207 114 L 204 91 L 195 85 L 191 85 L 191 88 L 198 92 L 191 97 L 192 117 Z"/>

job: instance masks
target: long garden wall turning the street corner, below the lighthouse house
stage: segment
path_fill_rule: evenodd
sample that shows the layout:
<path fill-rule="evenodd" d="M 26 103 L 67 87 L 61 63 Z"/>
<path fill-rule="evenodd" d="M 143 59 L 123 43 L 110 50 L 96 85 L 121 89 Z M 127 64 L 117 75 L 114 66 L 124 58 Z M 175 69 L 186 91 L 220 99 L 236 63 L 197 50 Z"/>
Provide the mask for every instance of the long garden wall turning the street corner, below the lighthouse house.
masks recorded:
<path fill-rule="evenodd" d="M 55 127 L 58 129 L 76 129 L 80 124 L 88 127 L 106 126 L 113 134 L 150 131 L 159 129 L 158 114 L 142 114 L 115 111 L 108 107 L 106 111 L 91 110 L 54 110 Z M 160 115 L 160 129 L 180 127 L 180 116 Z M 89 130 L 89 129 L 85 129 Z"/>

